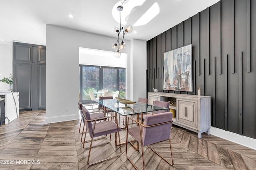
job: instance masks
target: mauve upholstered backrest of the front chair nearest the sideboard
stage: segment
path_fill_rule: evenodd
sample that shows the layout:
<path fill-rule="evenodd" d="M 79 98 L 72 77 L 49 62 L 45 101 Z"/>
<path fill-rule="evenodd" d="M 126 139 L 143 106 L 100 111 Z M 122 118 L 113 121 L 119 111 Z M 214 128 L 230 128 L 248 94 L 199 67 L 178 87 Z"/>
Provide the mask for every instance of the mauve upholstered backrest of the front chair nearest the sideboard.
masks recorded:
<path fill-rule="evenodd" d="M 159 113 L 147 115 L 145 117 L 144 125 L 156 125 L 158 123 L 165 123 L 172 121 L 172 112 Z M 172 123 L 156 125 L 154 127 L 143 127 L 142 142 L 143 146 L 158 143 L 170 138 Z"/>

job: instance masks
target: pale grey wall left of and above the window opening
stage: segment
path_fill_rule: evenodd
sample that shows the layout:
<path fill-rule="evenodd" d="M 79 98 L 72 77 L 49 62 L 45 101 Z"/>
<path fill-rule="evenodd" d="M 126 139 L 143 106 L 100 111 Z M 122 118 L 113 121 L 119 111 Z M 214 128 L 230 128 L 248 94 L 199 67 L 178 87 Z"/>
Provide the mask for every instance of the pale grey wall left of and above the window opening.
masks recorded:
<path fill-rule="evenodd" d="M 79 119 L 79 47 L 112 51 L 115 41 L 113 37 L 46 25 L 46 123 Z M 129 61 L 130 42 L 125 41 L 123 53 L 128 54 Z M 131 81 L 131 68 L 128 62 L 127 82 Z"/>

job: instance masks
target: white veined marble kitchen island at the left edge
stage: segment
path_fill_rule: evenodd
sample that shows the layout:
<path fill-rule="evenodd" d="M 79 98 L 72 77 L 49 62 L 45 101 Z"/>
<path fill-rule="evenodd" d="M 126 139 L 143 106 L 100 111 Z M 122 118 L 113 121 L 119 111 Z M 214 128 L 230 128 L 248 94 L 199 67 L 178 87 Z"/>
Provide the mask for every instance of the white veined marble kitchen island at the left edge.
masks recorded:
<path fill-rule="evenodd" d="M 5 98 L 5 124 L 8 124 L 20 116 L 19 92 L 0 92 L 0 96 Z"/>

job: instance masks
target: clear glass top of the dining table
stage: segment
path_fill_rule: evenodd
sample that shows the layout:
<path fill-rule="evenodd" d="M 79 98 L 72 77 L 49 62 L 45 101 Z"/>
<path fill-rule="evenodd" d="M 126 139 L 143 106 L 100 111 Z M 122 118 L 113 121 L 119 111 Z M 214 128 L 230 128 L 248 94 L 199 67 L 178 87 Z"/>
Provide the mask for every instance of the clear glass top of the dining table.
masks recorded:
<path fill-rule="evenodd" d="M 119 113 L 120 115 L 133 115 L 138 113 L 169 109 L 141 102 L 136 102 L 134 104 L 122 104 L 116 99 L 95 100 L 95 102 Z"/>

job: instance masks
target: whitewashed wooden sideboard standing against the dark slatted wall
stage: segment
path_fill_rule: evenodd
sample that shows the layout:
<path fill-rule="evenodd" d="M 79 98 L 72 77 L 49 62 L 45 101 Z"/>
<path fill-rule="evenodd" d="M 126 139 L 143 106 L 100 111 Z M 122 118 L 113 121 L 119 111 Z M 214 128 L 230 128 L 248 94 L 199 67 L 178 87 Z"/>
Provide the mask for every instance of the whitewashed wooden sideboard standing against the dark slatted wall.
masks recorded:
<path fill-rule="evenodd" d="M 190 94 L 149 92 L 149 104 L 154 104 L 155 100 L 176 101 L 176 105 L 170 105 L 176 110 L 176 117 L 173 117 L 173 124 L 198 133 L 198 138 L 202 138 L 202 133 L 210 135 L 211 127 L 211 97 L 197 96 Z"/>

